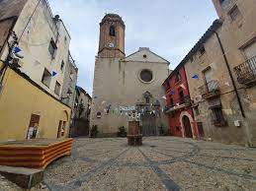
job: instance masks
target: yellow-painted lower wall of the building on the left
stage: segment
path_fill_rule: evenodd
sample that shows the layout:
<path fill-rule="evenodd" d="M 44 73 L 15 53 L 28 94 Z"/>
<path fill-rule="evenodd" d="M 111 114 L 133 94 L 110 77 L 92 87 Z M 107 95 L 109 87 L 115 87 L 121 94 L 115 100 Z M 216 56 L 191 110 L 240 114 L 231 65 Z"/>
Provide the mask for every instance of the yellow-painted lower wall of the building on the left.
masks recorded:
<path fill-rule="evenodd" d="M 24 140 L 32 114 L 40 115 L 40 138 L 56 138 L 59 120 L 69 124 L 70 108 L 8 69 L 0 92 L 0 141 Z"/>

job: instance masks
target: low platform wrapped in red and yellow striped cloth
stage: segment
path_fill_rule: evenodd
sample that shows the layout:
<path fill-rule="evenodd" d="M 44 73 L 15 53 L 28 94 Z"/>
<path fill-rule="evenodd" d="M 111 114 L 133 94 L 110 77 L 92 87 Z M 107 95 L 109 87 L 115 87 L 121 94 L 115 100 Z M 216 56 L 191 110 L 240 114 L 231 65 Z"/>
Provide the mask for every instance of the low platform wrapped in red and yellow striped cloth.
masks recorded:
<path fill-rule="evenodd" d="M 0 143 L 0 165 L 45 168 L 71 154 L 72 139 L 36 139 Z"/>

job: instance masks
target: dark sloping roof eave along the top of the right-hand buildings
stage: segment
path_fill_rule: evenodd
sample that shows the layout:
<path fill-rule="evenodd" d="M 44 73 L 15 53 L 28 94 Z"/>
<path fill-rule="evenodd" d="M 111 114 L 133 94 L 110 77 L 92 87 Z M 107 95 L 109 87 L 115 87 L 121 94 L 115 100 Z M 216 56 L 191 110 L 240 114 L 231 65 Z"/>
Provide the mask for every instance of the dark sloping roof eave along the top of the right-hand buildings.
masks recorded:
<path fill-rule="evenodd" d="M 174 69 L 174 71 L 168 76 L 168 78 L 164 81 L 163 85 L 175 74 L 180 67 L 184 66 L 190 58 L 197 53 L 200 48 L 206 43 L 206 41 L 213 35 L 213 33 L 222 26 L 222 22 L 220 20 L 215 20 L 213 25 L 208 29 L 207 32 L 199 39 L 199 41 L 194 45 L 194 47 L 190 50 L 190 52 L 183 58 L 180 64 Z"/>

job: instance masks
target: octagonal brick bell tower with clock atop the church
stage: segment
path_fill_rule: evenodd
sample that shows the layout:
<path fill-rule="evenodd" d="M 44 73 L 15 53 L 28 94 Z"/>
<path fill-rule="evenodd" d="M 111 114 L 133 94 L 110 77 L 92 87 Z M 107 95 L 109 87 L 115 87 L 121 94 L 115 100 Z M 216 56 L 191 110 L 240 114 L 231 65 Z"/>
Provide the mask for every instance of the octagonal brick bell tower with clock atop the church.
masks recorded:
<path fill-rule="evenodd" d="M 98 57 L 125 58 L 125 23 L 117 14 L 107 14 L 100 23 Z"/>

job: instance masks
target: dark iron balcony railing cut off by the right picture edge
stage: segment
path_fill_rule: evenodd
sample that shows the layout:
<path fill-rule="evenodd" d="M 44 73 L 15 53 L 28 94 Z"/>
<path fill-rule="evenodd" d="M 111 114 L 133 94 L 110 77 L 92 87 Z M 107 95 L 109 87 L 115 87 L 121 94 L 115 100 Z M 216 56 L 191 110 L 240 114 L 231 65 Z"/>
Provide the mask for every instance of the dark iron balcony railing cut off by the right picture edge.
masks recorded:
<path fill-rule="evenodd" d="M 236 66 L 234 72 L 237 81 L 246 86 L 250 86 L 256 82 L 256 56 L 246 60 L 244 63 Z"/>

